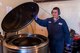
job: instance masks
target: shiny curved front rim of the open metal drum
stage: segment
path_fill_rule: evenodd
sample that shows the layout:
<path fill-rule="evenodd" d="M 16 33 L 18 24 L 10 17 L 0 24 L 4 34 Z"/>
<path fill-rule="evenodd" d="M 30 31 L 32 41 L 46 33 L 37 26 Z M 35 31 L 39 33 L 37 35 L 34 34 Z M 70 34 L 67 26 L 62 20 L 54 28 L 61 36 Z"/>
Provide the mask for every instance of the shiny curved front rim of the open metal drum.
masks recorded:
<path fill-rule="evenodd" d="M 38 35 L 38 34 L 33 34 L 33 35 Z M 43 36 L 45 37 L 45 36 Z M 6 39 L 3 40 L 3 45 L 7 48 L 10 48 L 10 49 L 16 49 L 16 50 L 19 50 L 19 49 L 35 49 L 35 48 L 41 48 L 41 47 L 44 47 L 45 45 L 47 45 L 49 42 L 48 38 L 46 37 L 46 41 L 43 42 L 43 43 L 40 43 L 39 45 L 34 45 L 34 46 L 16 46 L 16 45 L 12 45 L 12 44 L 8 44 L 6 42 Z"/>

